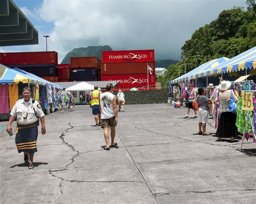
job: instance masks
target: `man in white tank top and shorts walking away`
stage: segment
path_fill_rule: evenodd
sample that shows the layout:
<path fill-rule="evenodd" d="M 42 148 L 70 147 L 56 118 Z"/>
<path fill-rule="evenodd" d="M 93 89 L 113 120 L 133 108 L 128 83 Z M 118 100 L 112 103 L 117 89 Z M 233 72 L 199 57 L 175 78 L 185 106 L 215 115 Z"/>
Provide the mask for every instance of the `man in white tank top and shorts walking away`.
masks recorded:
<path fill-rule="evenodd" d="M 110 147 L 116 146 L 114 137 L 116 137 L 117 125 L 117 98 L 113 95 L 113 85 L 108 83 L 106 85 L 106 92 L 100 94 L 99 110 L 102 114 L 102 128 L 104 128 L 104 137 L 106 146 L 104 150 L 110 150 Z M 109 145 L 109 127 L 111 130 L 111 145 Z"/>

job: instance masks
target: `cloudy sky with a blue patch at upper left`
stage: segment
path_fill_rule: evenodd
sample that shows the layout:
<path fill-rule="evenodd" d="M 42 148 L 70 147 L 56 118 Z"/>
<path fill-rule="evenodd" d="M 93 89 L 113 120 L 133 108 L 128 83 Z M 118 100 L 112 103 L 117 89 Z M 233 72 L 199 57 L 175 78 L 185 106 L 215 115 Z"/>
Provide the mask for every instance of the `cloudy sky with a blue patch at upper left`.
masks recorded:
<path fill-rule="evenodd" d="M 39 33 L 39 45 L 0 52 L 58 52 L 109 45 L 113 50 L 154 49 L 156 59 L 180 59 L 180 48 L 199 27 L 246 0 L 14 0 Z"/>

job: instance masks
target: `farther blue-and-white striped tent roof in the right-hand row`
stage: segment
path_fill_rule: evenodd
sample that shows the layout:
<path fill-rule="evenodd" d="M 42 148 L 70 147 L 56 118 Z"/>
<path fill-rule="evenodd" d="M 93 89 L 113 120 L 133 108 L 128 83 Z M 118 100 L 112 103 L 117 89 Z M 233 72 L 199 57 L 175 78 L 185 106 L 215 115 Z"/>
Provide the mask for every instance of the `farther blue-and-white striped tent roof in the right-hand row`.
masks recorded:
<path fill-rule="evenodd" d="M 190 80 L 190 79 L 196 79 L 196 78 L 200 78 L 201 76 L 203 76 L 203 74 L 211 68 L 214 68 L 220 64 L 222 64 L 223 62 L 229 60 L 228 58 L 219 58 L 219 59 L 214 59 L 211 61 L 206 62 L 203 65 L 200 65 L 197 68 L 194 68 L 192 71 L 180 76 L 177 79 L 174 79 L 172 81 L 170 81 L 169 83 L 178 83 L 184 80 Z"/>

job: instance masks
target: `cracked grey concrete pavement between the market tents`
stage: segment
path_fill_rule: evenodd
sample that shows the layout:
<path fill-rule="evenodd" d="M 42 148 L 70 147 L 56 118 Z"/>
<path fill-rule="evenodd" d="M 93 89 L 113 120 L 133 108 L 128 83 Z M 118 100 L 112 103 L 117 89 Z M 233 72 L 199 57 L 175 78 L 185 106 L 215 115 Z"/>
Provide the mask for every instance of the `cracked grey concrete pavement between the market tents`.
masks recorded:
<path fill-rule="evenodd" d="M 193 135 L 198 120 L 169 104 L 125 110 L 110 151 L 88 105 L 46 115 L 33 170 L 0 122 L 1 203 L 255 203 L 252 139 L 239 152 L 241 140 Z"/>

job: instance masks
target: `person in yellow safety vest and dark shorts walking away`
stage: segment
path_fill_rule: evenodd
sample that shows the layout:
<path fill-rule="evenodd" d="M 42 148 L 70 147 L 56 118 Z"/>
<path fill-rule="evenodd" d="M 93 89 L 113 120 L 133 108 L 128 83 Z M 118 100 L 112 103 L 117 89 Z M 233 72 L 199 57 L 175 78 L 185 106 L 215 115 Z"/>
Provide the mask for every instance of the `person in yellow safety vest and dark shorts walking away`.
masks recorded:
<path fill-rule="evenodd" d="M 98 90 L 98 86 L 94 86 L 94 90 L 90 93 L 89 103 L 92 108 L 92 115 L 94 115 L 96 127 L 99 126 L 100 123 L 100 111 L 99 111 L 99 98 L 100 98 L 100 90 Z"/>

